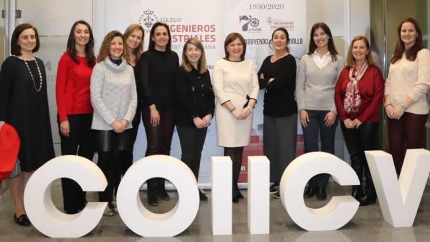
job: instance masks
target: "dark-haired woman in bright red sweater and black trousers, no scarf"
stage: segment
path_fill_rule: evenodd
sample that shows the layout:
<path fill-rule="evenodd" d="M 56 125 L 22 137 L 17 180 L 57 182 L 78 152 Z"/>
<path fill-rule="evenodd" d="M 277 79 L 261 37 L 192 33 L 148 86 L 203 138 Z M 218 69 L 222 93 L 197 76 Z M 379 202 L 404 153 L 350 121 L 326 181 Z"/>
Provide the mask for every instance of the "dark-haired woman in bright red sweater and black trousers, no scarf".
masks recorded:
<path fill-rule="evenodd" d="M 67 50 L 58 63 L 56 95 L 61 154 L 78 154 L 92 160 L 92 106 L 89 80 L 95 65 L 94 37 L 89 24 L 76 21 L 70 29 Z M 62 178 L 64 211 L 75 214 L 86 204 L 86 194 L 75 181 Z"/>

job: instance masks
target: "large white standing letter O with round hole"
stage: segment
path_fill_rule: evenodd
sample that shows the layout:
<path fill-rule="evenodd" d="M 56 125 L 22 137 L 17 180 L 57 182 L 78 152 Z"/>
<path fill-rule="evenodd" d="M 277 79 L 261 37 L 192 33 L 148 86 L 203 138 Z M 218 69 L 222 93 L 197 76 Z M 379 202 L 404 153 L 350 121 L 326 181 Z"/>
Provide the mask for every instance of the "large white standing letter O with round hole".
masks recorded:
<path fill-rule="evenodd" d="M 140 200 L 141 185 L 153 177 L 170 180 L 178 191 L 178 202 L 167 213 L 152 213 Z M 197 214 L 197 181 L 182 161 L 168 155 L 151 155 L 135 162 L 126 172 L 118 187 L 117 206 L 121 219 L 136 234 L 172 237 L 187 229 Z"/>

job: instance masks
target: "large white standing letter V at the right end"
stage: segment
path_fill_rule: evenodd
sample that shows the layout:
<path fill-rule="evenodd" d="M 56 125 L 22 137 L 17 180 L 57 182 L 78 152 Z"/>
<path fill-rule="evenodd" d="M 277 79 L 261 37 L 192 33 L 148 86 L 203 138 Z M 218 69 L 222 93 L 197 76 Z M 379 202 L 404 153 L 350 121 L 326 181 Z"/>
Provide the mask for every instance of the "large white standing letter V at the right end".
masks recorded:
<path fill-rule="evenodd" d="M 390 154 L 365 153 L 384 219 L 394 227 L 412 226 L 430 173 L 430 152 L 408 150 L 399 179 Z"/>

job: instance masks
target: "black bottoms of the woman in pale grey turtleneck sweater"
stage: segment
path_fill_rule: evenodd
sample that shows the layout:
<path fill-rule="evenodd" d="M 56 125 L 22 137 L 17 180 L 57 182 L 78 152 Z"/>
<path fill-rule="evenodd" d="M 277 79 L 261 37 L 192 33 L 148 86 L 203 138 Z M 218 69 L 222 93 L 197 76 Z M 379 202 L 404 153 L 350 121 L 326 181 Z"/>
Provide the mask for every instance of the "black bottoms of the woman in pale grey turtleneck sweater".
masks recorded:
<path fill-rule="evenodd" d="M 120 176 L 120 164 L 133 145 L 131 133 L 131 129 L 122 133 L 116 133 L 113 130 L 95 131 L 96 150 L 99 155 L 97 165 L 108 180 L 105 191 L 99 192 L 101 202 L 113 201 L 113 188 Z"/>

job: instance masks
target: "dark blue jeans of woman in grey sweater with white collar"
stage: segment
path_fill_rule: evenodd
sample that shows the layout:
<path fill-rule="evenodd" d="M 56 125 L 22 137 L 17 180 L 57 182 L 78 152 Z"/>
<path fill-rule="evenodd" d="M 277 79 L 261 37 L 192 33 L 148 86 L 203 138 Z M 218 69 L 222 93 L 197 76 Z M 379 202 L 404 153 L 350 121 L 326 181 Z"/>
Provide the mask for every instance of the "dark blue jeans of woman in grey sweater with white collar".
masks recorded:
<path fill-rule="evenodd" d="M 303 129 L 304 136 L 304 153 L 320 151 L 318 146 L 318 133 L 321 138 L 321 151 L 334 154 L 334 136 L 336 133 L 336 127 L 338 126 L 338 119 L 336 118 L 335 123 L 327 127 L 325 126 L 325 115 L 329 112 L 328 110 L 306 110 L 309 116 L 309 122 L 307 127 Z M 319 174 L 312 177 L 309 180 L 310 188 L 327 187 L 328 179 L 330 175 Z"/>

